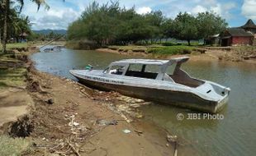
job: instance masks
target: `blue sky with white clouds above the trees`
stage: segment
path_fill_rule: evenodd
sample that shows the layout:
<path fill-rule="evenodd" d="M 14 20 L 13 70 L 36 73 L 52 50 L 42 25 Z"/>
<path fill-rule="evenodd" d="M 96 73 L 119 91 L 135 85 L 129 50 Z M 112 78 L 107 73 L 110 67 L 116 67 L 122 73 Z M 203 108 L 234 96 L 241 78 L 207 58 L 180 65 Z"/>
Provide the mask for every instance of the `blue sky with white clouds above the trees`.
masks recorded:
<path fill-rule="evenodd" d="M 70 23 L 77 20 L 81 13 L 93 0 L 46 0 L 50 10 L 25 0 L 22 14 L 29 16 L 33 24 L 32 30 L 66 30 Z M 96 0 L 105 4 L 109 0 Z M 256 0 L 119 0 L 121 7 L 134 7 L 137 13 L 162 11 L 164 16 L 175 18 L 178 12 L 187 11 L 192 15 L 198 12 L 214 11 L 225 18 L 230 27 L 244 25 L 248 19 L 256 23 Z"/>

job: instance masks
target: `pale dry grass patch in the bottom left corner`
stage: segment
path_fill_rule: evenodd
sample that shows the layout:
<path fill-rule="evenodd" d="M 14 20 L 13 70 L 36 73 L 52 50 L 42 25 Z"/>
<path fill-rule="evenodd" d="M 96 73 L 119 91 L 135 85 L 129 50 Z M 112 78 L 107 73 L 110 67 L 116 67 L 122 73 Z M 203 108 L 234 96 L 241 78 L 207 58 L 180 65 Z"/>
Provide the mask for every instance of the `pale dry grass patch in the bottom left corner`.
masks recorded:
<path fill-rule="evenodd" d="M 21 155 L 31 150 L 31 141 L 24 138 L 11 138 L 0 135 L 0 154 L 2 156 Z"/>

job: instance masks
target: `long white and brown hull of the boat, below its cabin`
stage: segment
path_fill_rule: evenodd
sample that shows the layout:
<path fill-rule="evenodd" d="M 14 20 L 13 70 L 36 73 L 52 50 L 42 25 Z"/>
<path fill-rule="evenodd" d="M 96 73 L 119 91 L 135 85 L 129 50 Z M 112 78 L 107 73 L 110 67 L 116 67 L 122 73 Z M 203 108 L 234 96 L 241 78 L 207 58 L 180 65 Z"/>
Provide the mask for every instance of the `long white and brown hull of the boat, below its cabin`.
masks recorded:
<path fill-rule="evenodd" d="M 219 96 L 212 91 L 212 96 L 216 96 L 216 99 L 212 99 L 197 92 L 197 89 L 191 89 L 187 86 L 169 85 L 168 82 L 160 82 L 161 84 L 159 84 L 156 80 L 132 79 L 130 77 L 118 79 L 118 76 L 101 75 L 102 71 L 72 70 L 70 73 L 78 78 L 79 82 L 89 87 L 114 90 L 130 97 L 171 104 L 200 112 L 219 112 L 229 99 L 229 93 Z"/>

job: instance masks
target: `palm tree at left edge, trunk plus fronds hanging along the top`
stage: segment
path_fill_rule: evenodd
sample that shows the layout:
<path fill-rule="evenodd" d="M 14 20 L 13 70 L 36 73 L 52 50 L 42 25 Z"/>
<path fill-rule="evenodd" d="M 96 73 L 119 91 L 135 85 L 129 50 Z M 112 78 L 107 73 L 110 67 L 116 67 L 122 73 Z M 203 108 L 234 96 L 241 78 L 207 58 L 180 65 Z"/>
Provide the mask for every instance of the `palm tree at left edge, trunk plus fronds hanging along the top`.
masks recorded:
<path fill-rule="evenodd" d="M 24 6 L 24 0 L 16 0 L 20 4 L 20 11 Z M 49 9 L 50 7 L 45 2 L 45 0 L 31 0 L 31 2 L 35 2 L 37 4 L 37 10 L 40 9 L 41 5 L 45 6 L 45 9 Z M 2 8 L 3 10 L 3 33 L 2 33 L 2 53 L 7 52 L 7 17 L 10 11 L 10 0 L 2 0 Z"/>

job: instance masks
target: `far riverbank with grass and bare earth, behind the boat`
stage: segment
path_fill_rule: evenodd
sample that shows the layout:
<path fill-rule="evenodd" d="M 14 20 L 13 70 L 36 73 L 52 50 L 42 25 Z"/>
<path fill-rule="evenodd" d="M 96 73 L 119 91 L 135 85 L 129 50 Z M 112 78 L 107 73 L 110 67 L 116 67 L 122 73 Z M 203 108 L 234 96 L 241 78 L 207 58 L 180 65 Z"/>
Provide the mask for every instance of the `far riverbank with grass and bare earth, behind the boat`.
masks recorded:
<path fill-rule="evenodd" d="M 172 48 L 173 47 L 173 48 Z M 107 53 L 120 53 L 130 56 L 143 56 L 168 59 L 171 57 L 189 56 L 192 61 L 197 60 L 223 60 L 231 62 L 256 63 L 256 47 L 189 47 L 189 46 L 110 46 L 97 48 L 97 51 Z"/>

